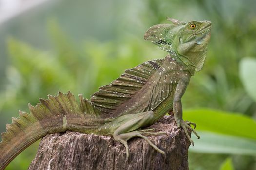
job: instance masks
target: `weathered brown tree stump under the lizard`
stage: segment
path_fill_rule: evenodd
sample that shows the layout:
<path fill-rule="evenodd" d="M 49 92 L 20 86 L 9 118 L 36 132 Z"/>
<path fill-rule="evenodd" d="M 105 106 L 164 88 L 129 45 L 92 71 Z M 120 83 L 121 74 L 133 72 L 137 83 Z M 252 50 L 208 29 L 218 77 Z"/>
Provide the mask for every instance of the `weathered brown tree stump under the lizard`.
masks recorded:
<path fill-rule="evenodd" d="M 125 147 L 112 137 L 67 131 L 41 140 L 29 170 L 188 170 L 190 142 L 173 115 L 147 128 L 167 133 L 148 136 L 166 155 L 137 137 L 128 141 L 127 160 Z"/>

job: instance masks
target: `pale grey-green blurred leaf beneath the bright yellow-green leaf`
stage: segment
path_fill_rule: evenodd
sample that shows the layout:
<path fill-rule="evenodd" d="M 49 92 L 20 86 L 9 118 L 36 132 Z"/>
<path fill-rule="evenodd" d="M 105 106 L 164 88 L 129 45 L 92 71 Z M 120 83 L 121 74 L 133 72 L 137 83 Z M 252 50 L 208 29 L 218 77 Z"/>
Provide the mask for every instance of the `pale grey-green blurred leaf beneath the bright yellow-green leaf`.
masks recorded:
<path fill-rule="evenodd" d="M 255 140 L 206 131 L 198 131 L 198 134 L 201 137 L 199 140 L 192 134 L 192 140 L 195 142 L 195 145 L 190 147 L 190 152 L 256 156 Z"/>

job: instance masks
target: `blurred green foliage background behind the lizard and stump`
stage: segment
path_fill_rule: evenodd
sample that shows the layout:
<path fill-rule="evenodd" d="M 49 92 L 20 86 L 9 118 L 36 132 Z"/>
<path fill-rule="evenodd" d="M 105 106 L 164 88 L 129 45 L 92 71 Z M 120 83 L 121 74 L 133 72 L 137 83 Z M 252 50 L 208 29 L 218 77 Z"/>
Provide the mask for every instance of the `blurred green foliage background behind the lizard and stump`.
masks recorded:
<path fill-rule="evenodd" d="M 124 69 L 165 57 L 143 34 L 166 16 L 212 22 L 204 68 L 182 98 L 201 136 L 192 134 L 190 170 L 256 170 L 255 0 L 0 0 L 0 132 L 39 97 L 89 98 Z M 26 170 L 38 145 L 6 170 Z"/>

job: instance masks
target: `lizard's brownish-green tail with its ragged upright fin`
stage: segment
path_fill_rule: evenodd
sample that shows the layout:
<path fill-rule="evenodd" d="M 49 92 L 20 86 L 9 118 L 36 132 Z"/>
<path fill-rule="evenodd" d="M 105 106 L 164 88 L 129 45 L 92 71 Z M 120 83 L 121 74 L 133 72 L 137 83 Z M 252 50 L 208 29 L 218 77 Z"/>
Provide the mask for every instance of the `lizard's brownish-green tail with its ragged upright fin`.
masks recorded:
<path fill-rule="evenodd" d="M 20 152 L 43 136 L 51 133 L 73 130 L 90 132 L 90 116 L 100 114 L 99 110 L 81 95 L 80 104 L 71 92 L 48 99 L 39 99 L 35 107 L 29 104 L 30 114 L 20 111 L 12 124 L 6 125 L 0 142 L 0 170 L 3 170 Z M 86 114 L 87 113 L 87 114 Z M 86 131 L 87 130 L 87 131 Z"/>

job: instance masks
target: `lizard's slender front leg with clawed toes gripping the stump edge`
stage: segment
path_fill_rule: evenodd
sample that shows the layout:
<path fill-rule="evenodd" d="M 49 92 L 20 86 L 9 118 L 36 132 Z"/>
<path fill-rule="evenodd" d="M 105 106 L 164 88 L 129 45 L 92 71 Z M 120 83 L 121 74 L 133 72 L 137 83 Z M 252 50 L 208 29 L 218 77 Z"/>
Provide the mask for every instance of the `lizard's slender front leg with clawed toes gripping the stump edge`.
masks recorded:
<path fill-rule="evenodd" d="M 181 104 L 181 97 L 186 91 L 188 85 L 188 81 L 186 80 L 180 80 L 177 84 L 175 93 L 174 93 L 174 101 L 173 101 L 173 112 L 174 112 L 174 119 L 177 123 L 178 127 L 181 127 L 184 129 L 186 136 L 188 137 L 189 141 L 191 142 L 192 146 L 194 146 L 193 140 L 190 138 L 188 131 L 186 128 L 192 130 L 192 132 L 197 136 L 199 139 L 200 136 L 197 134 L 197 132 L 191 128 L 189 125 L 192 124 L 194 128 L 196 128 L 196 124 L 192 122 L 186 122 L 182 119 L 182 104 Z"/>

